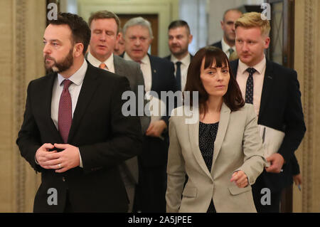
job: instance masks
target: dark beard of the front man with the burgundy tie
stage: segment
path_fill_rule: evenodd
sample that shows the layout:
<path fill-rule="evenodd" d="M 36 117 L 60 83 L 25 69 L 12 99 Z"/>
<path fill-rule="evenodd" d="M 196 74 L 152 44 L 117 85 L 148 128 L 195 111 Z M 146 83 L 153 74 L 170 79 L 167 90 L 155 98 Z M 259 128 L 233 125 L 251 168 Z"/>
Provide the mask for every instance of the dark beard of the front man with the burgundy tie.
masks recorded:
<path fill-rule="evenodd" d="M 48 63 L 46 63 L 47 59 L 52 60 L 53 65 L 48 65 Z M 65 70 L 68 70 L 71 67 L 71 65 L 73 65 L 73 49 L 71 48 L 68 55 L 60 61 L 57 61 L 55 60 L 55 58 L 51 58 L 46 54 L 46 56 L 44 56 L 44 63 L 46 73 L 61 73 Z"/>

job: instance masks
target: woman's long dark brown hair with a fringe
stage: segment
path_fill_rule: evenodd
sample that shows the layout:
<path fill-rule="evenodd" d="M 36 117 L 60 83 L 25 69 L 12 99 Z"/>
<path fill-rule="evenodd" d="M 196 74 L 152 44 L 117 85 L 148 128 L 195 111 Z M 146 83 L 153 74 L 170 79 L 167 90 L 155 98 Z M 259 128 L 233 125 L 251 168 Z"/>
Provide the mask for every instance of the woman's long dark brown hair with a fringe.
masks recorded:
<path fill-rule="evenodd" d="M 215 48 L 213 46 L 206 46 L 201 48 L 196 55 L 192 58 L 191 63 L 188 68 L 188 75 L 186 80 L 185 91 L 190 91 L 190 105 L 193 105 L 193 91 L 198 91 L 198 104 L 201 112 L 204 110 L 206 112 L 206 101 L 208 100 L 208 93 L 203 87 L 200 71 L 201 63 L 203 58 L 205 58 L 204 68 L 209 68 L 214 62 L 215 67 L 222 68 L 227 65 L 230 73 L 230 80 L 228 84 L 228 90 L 223 95 L 223 101 L 230 108 L 231 111 L 239 110 L 245 105 L 245 101 L 242 98 L 241 90 L 235 80 L 235 76 L 230 70 L 230 63 L 228 57 L 225 55 L 220 48 Z"/>

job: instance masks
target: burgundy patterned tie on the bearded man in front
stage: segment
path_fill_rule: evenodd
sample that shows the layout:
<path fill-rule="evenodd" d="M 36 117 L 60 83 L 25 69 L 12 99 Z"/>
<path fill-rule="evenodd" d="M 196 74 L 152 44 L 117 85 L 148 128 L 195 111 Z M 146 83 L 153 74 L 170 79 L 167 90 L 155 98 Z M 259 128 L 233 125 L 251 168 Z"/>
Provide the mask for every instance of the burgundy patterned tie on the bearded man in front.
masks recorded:
<path fill-rule="evenodd" d="M 63 92 L 61 93 L 59 102 L 58 130 L 64 143 L 68 142 L 71 122 L 73 121 L 73 107 L 68 89 L 71 83 L 71 80 L 63 80 Z"/>

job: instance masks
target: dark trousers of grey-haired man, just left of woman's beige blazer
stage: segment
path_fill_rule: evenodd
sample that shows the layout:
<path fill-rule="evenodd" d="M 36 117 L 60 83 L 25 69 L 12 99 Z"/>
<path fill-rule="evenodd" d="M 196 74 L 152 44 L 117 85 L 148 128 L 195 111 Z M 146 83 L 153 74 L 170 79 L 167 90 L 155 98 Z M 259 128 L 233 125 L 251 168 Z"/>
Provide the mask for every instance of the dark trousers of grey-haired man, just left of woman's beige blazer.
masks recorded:
<path fill-rule="evenodd" d="M 166 212 L 166 166 L 139 167 L 136 201 L 136 211 Z"/>

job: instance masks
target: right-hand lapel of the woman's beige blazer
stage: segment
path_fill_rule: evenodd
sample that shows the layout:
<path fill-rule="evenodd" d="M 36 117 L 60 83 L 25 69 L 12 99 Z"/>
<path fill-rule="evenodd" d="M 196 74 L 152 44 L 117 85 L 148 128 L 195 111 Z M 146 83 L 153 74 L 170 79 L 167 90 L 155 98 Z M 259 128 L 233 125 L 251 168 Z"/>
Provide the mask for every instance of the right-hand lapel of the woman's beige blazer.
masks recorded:
<path fill-rule="evenodd" d="M 229 109 L 229 107 L 225 105 L 225 102 L 223 102 L 223 105 L 220 111 L 218 132 L 217 132 L 217 136 L 215 137 L 211 173 L 215 165 L 215 161 L 217 160 L 218 154 L 220 152 L 223 140 L 225 139 L 225 132 L 227 131 L 227 128 L 228 128 L 230 112 L 231 110 Z"/>

